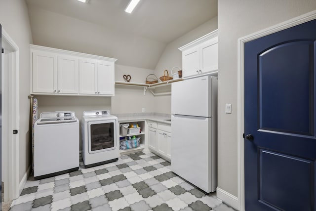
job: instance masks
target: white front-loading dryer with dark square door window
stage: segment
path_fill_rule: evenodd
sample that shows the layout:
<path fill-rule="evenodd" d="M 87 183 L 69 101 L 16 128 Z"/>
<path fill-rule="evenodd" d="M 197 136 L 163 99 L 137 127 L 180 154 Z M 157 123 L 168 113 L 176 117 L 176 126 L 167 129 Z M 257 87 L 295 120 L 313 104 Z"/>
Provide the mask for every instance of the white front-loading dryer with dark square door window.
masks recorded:
<path fill-rule="evenodd" d="M 85 168 L 118 160 L 118 118 L 110 111 L 84 111 L 81 120 Z"/>

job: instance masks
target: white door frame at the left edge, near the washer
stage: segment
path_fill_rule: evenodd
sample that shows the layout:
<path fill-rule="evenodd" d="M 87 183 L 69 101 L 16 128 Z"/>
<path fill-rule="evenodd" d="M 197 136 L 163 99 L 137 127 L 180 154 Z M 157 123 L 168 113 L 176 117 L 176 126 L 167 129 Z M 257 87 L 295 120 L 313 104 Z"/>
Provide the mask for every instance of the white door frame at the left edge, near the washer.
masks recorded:
<path fill-rule="evenodd" d="M 6 130 L 2 129 L 2 137 L 8 140 L 7 147 L 7 178 L 4 185 L 4 201 L 16 199 L 19 192 L 19 135 L 13 134 L 13 129 L 19 129 L 19 47 L 10 38 L 2 27 L 2 48 L 8 49 L 8 74 L 2 73 L 2 110 L 7 111 L 7 115 L 2 112 L 2 128 L 6 125 Z M 1 67 L 2 68 L 2 67 Z M 2 72 L 2 71 L 1 71 Z M 5 90 L 5 91 L 4 91 Z M 2 101 L 3 102 L 3 101 Z M 2 138 L 3 141 L 3 138 Z M 3 148 L 2 148 L 3 150 Z M 2 171 L 3 172 L 3 171 Z M 3 179 L 3 178 L 2 178 Z"/>

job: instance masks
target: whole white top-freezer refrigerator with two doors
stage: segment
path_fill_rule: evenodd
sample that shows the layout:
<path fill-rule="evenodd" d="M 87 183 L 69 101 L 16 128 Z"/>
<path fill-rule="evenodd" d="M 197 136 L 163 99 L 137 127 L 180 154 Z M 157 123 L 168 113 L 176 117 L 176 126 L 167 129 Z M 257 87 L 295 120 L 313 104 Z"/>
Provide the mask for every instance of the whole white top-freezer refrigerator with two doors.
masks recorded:
<path fill-rule="evenodd" d="M 210 193 L 217 186 L 217 77 L 172 83 L 171 169 Z"/>

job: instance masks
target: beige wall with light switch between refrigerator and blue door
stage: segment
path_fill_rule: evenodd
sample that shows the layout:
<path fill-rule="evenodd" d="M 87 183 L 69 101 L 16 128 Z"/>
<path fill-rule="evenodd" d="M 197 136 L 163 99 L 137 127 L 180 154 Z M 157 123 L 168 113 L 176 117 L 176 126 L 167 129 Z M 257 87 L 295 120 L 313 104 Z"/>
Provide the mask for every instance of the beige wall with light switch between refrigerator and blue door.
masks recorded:
<path fill-rule="evenodd" d="M 316 9 L 315 0 L 218 1 L 218 186 L 237 196 L 237 39 Z M 232 103 L 232 114 L 225 114 Z"/>

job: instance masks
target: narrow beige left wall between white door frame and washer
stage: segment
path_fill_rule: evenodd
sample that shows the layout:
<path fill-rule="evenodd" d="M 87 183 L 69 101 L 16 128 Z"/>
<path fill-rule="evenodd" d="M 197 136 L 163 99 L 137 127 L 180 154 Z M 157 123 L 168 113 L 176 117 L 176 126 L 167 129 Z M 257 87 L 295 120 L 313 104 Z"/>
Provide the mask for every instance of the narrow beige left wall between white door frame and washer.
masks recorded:
<path fill-rule="evenodd" d="M 0 0 L 0 23 L 20 50 L 19 180 L 30 166 L 29 139 L 30 48 L 32 43 L 28 9 L 24 0 Z M 5 112 L 5 111 L 4 111 Z"/>

